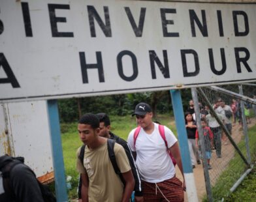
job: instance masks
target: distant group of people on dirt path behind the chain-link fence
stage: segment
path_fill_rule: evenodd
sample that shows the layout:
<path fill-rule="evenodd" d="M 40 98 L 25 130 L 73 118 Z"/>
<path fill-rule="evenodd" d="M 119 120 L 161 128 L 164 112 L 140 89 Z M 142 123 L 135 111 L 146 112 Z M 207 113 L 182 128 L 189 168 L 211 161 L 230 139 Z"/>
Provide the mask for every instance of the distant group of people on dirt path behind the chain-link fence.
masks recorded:
<path fill-rule="evenodd" d="M 225 127 L 232 134 L 232 121 L 231 117 L 233 111 L 231 106 L 226 105 L 221 98 L 217 99 L 216 103 L 212 106 L 216 112 L 219 120 L 225 124 Z M 204 148 L 206 151 L 206 159 L 208 162 L 208 169 L 212 169 L 210 159 L 212 158 L 212 150 L 216 149 L 217 158 L 221 158 L 221 141 L 227 145 L 227 136 L 223 134 L 220 124 L 217 122 L 216 117 L 209 110 L 208 106 L 200 106 L 200 124 L 202 126 L 202 134 L 204 136 Z M 185 112 L 185 127 L 187 130 L 187 139 L 189 143 L 189 152 L 191 156 L 191 165 L 195 168 L 195 164 L 200 163 L 200 141 L 199 132 L 197 130 L 197 123 L 195 122 L 195 110 L 193 100 L 189 101 L 189 108 Z"/>

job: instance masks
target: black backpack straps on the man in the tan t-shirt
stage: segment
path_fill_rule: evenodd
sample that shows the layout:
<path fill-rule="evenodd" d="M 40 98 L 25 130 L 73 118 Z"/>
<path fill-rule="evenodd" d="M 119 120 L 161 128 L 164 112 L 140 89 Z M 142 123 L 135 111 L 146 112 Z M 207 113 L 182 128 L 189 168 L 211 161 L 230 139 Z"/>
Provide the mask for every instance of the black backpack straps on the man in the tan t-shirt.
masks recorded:
<path fill-rule="evenodd" d="M 125 180 L 123 179 L 123 175 L 121 174 L 121 171 L 118 167 L 118 164 L 116 163 L 116 155 L 114 153 L 114 145 L 115 141 L 113 139 L 108 139 L 107 140 L 107 145 L 108 145 L 108 157 L 110 159 L 110 162 L 112 166 L 114 167 L 114 171 L 117 175 L 119 175 L 121 182 L 123 182 L 123 185 L 125 186 Z M 79 154 L 79 159 L 82 162 L 82 165 L 84 165 L 84 151 L 86 149 L 86 145 L 82 145 L 80 154 Z"/>

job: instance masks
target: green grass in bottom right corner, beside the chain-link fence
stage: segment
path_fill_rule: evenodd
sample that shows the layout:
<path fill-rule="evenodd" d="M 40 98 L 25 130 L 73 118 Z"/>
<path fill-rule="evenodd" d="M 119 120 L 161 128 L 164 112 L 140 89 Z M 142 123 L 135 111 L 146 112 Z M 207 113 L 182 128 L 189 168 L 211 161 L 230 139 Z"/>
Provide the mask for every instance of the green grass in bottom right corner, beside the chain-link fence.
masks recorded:
<path fill-rule="evenodd" d="M 250 153 L 251 153 L 251 158 L 253 160 L 253 162 L 255 162 L 256 160 L 256 126 L 253 126 L 252 128 L 249 129 L 249 149 L 250 149 Z M 244 146 L 244 141 L 241 141 L 238 144 L 239 148 L 242 148 L 241 151 L 242 153 L 245 155 L 246 154 L 246 147 Z M 225 169 L 225 171 L 223 173 L 221 173 L 221 175 L 219 176 L 219 179 L 216 182 L 216 185 L 214 187 L 212 187 L 212 196 L 214 197 L 214 201 L 221 201 L 222 198 L 225 199 L 225 201 L 248 201 L 248 195 L 249 194 L 246 190 L 242 190 L 238 191 L 236 190 L 236 192 L 234 192 L 233 194 L 231 194 L 229 192 L 229 189 L 233 186 L 234 182 L 236 182 L 236 180 L 238 180 L 241 175 L 246 171 L 246 169 L 248 169 L 248 167 L 246 167 L 246 164 L 244 164 L 244 162 L 242 162 L 240 156 L 236 153 L 234 158 L 232 158 L 231 162 L 229 162 L 229 166 L 227 167 L 227 169 Z M 254 168 L 255 170 L 255 168 Z M 252 172 L 254 174 L 251 175 L 255 175 L 255 171 Z M 253 177 L 252 177 L 253 179 Z M 256 179 L 256 177 L 254 177 L 254 179 Z M 242 182 L 242 184 L 246 183 L 245 181 Z M 248 187 L 251 188 L 253 187 L 254 190 L 256 189 L 256 180 L 253 182 L 249 182 Z M 235 195 L 235 197 L 234 197 Z M 239 195 L 239 200 L 238 196 Z M 255 193 L 254 193 L 255 195 Z M 254 196 L 255 198 L 255 196 Z M 207 201 L 206 196 L 204 196 L 203 201 Z M 249 201 L 253 201 L 253 199 L 249 199 Z"/>

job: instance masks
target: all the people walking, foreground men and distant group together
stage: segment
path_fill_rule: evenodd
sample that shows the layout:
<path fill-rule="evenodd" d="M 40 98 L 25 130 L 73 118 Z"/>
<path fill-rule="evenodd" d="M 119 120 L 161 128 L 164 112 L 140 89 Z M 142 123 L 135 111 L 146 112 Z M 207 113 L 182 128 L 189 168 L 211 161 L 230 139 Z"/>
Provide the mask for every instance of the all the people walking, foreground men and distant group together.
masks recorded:
<path fill-rule="evenodd" d="M 213 149 L 216 149 L 217 158 L 221 158 L 221 140 L 225 145 L 227 139 L 216 115 L 231 135 L 231 118 L 235 123 L 234 114 L 239 112 L 236 100 L 232 100 L 231 106 L 228 106 L 218 99 L 212 107 L 215 115 L 208 106 L 200 107 L 203 141 L 199 141 L 193 100 L 189 101 L 189 108 L 185 111 L 185 127 L 193 168 L 195 164 L 201 164 L 202 142 L 208 169 L 212 169 L 210 159 Z M 76 168 L 80 173 L 80 202 L 125 202 L 130 201 L 132 193 L 137 202 L 184 201 L 186 187 L 176 136 L 166 126 L 152 121 L 152 109 L 144 102 L 136 105 L 132 115 L 136 118 L 137 127 L 131 130 L 127 141 L 110 131 L 110 119 L 105 113 L 87 113 L 78 121 L 78 134 L 84 143 L 76 155 Z M 42 192 L 35 173 L 16 159 L 18 158 L 0 157 L 0 198 L 3 201 L 43 201 L 47 194 Z M 8 176 L 3 175 L 7 173 L 6 165 L 11 162 L 17 166 L 9 166 Z M 183 175 L 183 181 L 176 177 L 176 165 Z M 7 183 L 7 179 L 10 183 Z M 7 184 L 12 185 L 12 194 L 7 192 Z M 55 201 L 54 196 L 51 197 Z"/>

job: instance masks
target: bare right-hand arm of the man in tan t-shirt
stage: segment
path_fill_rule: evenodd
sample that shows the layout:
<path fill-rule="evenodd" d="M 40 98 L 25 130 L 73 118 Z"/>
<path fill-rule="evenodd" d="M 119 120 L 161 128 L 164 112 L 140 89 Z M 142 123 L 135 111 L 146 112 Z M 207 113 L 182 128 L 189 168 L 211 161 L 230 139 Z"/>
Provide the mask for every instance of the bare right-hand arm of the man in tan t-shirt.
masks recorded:
<path fill-rule="evenodd" d="M 131 193 L 133 192 L 133 188 L 135 187 L 135 179 L 133 178 L 133 173 L 129 170 L 126 173 L 121 173 L 123 175 L 123 179 L 125 180 L 125 190 L 123 192 L 122 202 L 129 202 L 131 198 Z"/>

